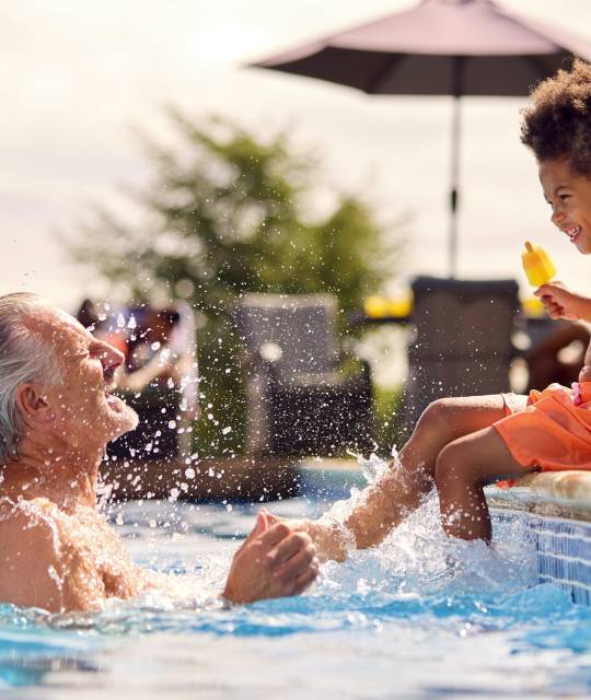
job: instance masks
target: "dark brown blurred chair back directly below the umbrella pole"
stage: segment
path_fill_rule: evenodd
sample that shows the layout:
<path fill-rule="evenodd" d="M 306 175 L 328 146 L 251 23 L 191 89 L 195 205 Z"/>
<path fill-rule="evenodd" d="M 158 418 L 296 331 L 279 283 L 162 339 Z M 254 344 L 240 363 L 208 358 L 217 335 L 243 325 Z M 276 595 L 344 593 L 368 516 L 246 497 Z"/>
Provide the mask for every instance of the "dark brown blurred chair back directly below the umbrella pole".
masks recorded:
<path fill-rule="evenodd" d="M 438 398 L 510 390 L 511 338 L 520 308 L 517 282 L 418 277 L 413 293 L 406 425 L 412 428 Z"/>

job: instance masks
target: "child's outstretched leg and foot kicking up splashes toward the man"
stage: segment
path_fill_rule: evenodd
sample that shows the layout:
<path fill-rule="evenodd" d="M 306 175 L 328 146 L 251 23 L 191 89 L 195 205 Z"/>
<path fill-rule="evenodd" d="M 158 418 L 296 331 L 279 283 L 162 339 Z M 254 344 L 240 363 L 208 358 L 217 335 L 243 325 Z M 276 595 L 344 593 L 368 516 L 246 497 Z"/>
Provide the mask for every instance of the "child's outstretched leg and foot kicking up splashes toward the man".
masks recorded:
<path fill-rule="evenodd" d="M 523 407 L 525 397 L 521 398 Z M 439 453 L 449 443 L 487 428 L 505 417 L 500 395 L 439 399 L 428 406 L 399 454 L 401 466 L 391 468 L 366 489 L 360 503 L 345 521 L 358 549 L 380 544 L 390 530 L 416 510 L 434 479 Z M 323 559 L 344 560 L 347 540 L 338 524 L 308 522 L 305 529 Z"/>

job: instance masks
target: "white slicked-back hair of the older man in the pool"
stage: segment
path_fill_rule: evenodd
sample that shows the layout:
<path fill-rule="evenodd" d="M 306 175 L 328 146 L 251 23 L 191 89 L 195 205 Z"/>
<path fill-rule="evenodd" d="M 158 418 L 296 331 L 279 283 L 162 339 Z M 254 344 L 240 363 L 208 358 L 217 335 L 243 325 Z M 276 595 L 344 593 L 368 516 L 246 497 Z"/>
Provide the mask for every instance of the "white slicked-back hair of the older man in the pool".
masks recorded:
<path fill-rule="evenodd" d="M 25 324 L 30 314 L 48 307 L 36 294 L 0 296 L 0 465 L 18 457 L 24 421 L 16 390 L 27 382 L 55 384 L 61 369 L 50 345 Z"/>

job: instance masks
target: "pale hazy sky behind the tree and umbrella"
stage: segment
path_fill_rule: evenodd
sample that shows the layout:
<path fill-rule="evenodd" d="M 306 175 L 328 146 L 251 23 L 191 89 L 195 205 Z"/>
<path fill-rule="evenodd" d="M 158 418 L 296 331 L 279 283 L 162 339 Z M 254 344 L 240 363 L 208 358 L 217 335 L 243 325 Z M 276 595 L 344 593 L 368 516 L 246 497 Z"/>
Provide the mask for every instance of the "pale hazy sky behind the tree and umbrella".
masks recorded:
<path fill-rule="evenodd" d="M 95 205 L 134 215 L 150 178 L 140 135 L 171 138 L 166 106 L 221 114 L 265 136 L 289 128 L 320 158 L 318 210 L 334 189 L 362 195 L 386 224 L 405 220 L 415 275 L 447 273 L 451 98 L 369 97 L 246 63 L 410 8 L 407 0 L 0 0 L 0 293 L 28 290 L 69 310 L 106 294 L 61 238 Z M 506 0 L 591 40 L 588 0 Z M 525 240 L 591 294 L 591 260 L 549 223 L 533 156 L 519 142 L 521 98 L 463 101 L 460 278 L 515 277 Z M 392 229 L 392 226 L 390 226 Z M 392 236 L 396 233 L 393 230 Z"/>

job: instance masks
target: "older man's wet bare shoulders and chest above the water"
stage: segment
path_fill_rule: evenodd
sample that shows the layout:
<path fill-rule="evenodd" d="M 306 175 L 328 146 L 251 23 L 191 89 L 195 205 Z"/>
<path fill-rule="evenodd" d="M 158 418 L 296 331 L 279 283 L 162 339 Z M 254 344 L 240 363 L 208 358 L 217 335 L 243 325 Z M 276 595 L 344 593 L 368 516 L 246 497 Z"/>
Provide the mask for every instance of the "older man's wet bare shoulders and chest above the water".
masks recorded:
<path fill-rule="evenodd" d="M 96 610 L 106 597 L 129 597 L 144 583 L 95 510 L 0 498 L 0 602 Z"/>

